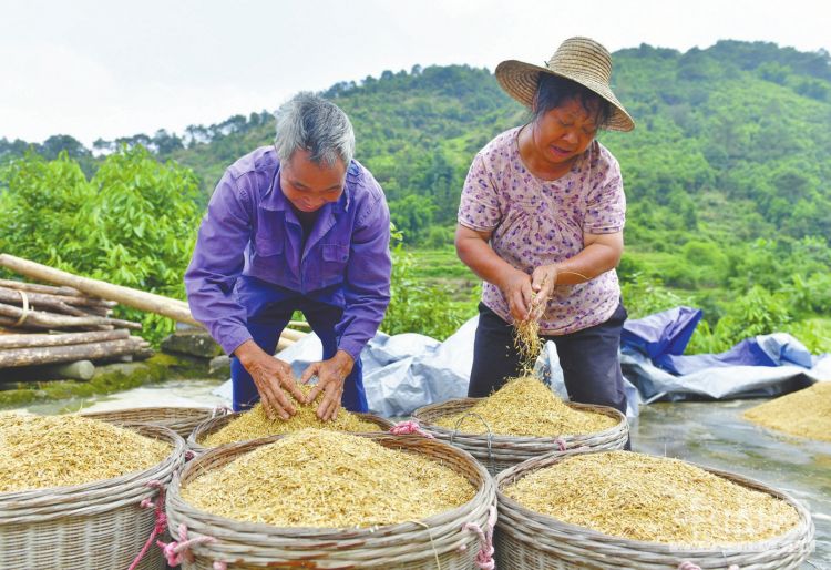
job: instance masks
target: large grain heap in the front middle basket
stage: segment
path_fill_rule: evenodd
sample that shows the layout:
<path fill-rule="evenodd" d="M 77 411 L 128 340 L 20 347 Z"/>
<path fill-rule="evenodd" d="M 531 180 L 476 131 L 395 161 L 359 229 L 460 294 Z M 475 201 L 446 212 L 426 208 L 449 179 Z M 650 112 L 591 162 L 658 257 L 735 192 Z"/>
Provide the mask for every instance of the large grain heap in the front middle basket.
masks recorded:
<path fill-rule="evenodd" d="M 208 471 L 182 490 L 194 507 L 277 527 L 416 521 L 473 499 L 463 476 L 369 438 L 305 429 Z"/>

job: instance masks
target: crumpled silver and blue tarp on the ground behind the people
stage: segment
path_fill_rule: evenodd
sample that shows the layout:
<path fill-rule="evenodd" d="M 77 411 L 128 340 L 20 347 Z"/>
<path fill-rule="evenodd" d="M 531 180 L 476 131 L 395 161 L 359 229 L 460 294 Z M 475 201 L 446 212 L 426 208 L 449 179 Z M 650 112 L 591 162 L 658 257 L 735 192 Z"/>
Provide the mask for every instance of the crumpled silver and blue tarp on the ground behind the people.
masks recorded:
<path fill-rule="evenodd" d="M 699 309 L 676 307 L 626 322 L 620 364 L 629 417 L 637 416 L 642 401 L 777 396 L 831 379 L 831 355 L 812 356 L 783 333 L 748 338 L 722 354 L 684 356 L 700 318 Z M 361 353 L 370 410 L 404 417 L 428 404 L 465 397 L 476 323 L 478 317 L 468 320 L 443 343 L 414 333 L 378 333 Z M 321 355 L 320 340 L 310 334 L 279 357 L 299 377 Z M 535 373 L 567 399 L 554 343 L 545 344 Z M 229 383 L 220 390 L 230 398 Z"/>

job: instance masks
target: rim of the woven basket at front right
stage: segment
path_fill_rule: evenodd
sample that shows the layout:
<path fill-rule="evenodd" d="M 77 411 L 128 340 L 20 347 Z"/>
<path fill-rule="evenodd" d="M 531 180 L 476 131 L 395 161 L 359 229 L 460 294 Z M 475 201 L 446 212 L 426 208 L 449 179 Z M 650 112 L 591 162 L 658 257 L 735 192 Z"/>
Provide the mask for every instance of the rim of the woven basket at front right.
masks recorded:
<path fill-rule="evenodd" d="M 591 449 L 591 450 L 585 450 L 577 455 L 583 456 L 583 455 L 589 455 L 589 454 L 608 454 L 608 452 L 613 452 L 613 450 Z M 648 455 L 648 454 L 642 454 L 642 455 Z M 644 541 L 644 540 L 634 540 L 634 539 L 627 539 L 623 537 L 615 537 L 613 535 L 606 535 L 604 532 L 591 529 L 588 527 L 581 527 L 577 525 L 573 525 L 571 522 L 560 520 L 550 515 L 544 515 L 542 512 L 531 510 L 527 507 L 524 507 L 519 501 L 507 497 L 503 492 L 503 488 L 506 485 L 516 482 L 517 480 L 522 479 L 523 477 L 525 477 L 526 475 L 530 475 L 533 471 L 536 471 L 538 469 L 544 469 L 546 467 L 551 467 L 571 457 L 576 457 L 576 455 L 574 454 L 568 455 L 568 454 L 563 454 L 560 451 L 554 451 L 552 454 L 546 454 L 544 456 L 538 456 L 538 457 L 527 459 L 525 461 L 522 461 L 521 464 L 517 464 L 497 474 L 494 477 L 494 484 L 496 486 L 496 500 L 497 500 L 499 506 L 501 507 L 500 515 L 504 517 L 510 517 L 509 512 L 510 510 L 513 510 L 516 513 L 521 515 L 523 518 L 533 518 L 537 520 L 541 525 L 545 526 L 546 528 L 560 528 L 566 532 L 582 535 L 583 537 L 585 537 L 585 539 L 581 541 L 597 540 L 597 541 L 603 541 L 604 543 L 607 543 L 607 544 L 616 544 L 618 547 L 623 547 L 628 550 L 639 550 L 639 551 L 655 552 L 655 553 L 660 553 L 660 554 L 683 553 L 684 556 L 711 557 L 711 556 L 724 556 L 728 553 L 730 550 L 737 550 L 737 551 L 741 551 L 742 553 L 745 553 L 745 552 L 748 552 L 747 547 L 749 546 L 755 547 L 755 549 L 757 550 L 759 549 L 759 547 L 765 547 L 765 546 L 774 548 L 774 547 L 780 547 L 782 544 L 787 544 L 787 543 L 791 543 L 793 541 L 800 540 L 802 537 L 813 537 L 814 535 L 813 520 L 811 519 L 810 512 L 801 502 L 796 500 L 793 497 L 791 497 L 787 492 L 780 491 L 779 489 L 770 487 L 766 485 L 765 482 L 759 481 L 757 479 L 752 479 L 750 477 L 733 474 L 730 471 L 724 471 L 721 469 L 699 465 L 693 461 L 686 461 L 684 459 L 678 459 L 678 460 L 684 461 L 687 465 L 698 467 L 699 469 L 704 469 L 705 471 L 710 472 L 712 475 L 728 479 L 731 482 L 741 485 L 742 487 L 749 488 L 751 490 L 765 492 L 767 495 L 770 495 L 772 497 L 776 497 L 787 502 L 791 508 L 793 508 L 797 511 L 799 516 L 799 523 L 794 528 L 786 532 L 784 535 L 780 535 L 778 537 L 773 537 L 773 538 L 766 539 L 766 540 L 760 540 L 756 542 L 735 542 L 735 543 L 729 543 L 725 546 L 695 547 L 695 546 L 689 546 L 689 544 L 678 544 L 678 543 L 669 543 L 669 542 L 653 542 L 653 541 Z"/>

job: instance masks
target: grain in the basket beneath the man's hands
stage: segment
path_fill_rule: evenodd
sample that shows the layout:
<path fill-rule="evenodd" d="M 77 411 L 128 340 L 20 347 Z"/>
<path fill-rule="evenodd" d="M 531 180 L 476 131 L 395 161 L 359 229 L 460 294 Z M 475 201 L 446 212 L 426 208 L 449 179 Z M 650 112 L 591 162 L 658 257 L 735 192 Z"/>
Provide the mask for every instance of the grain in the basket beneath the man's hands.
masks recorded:
<path fill-rule="evenodd" d="M 304 395 L 308 395 L 310 390 L 311 386 L 300 385 L 300 391 Z M 268 419 L 263 405 L 257 404 L 249 411 L 233 419 L 222 429 L 203 437 L 197 444 L 205 447 L 218 447 L 234 441 L 247 441 L 259 437 L 290 434 L 304 428 L 353 432 L 381 431 L 381 428 L 376 424 L 365 421 L 342 408 L 338 410 L 337 418 L 329 421 L 321 421 L 317 417 L 317 406 L 320 404 L 322 395 L 318 396 L 317 400 L 308 406 L 299 404 L 288 391 L 286 391 L 286 395 L 291 399 L 297 410 L 297 414 L 291 416 L 290 419 L 283 420 L 279 417 Z"/>

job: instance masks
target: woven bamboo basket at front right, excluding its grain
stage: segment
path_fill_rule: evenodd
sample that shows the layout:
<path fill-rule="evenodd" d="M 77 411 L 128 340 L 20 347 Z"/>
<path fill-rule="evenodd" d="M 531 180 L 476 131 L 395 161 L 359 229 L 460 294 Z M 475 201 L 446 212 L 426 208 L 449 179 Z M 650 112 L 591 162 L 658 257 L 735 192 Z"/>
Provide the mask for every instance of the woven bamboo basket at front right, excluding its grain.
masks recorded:
<path fill-rule="evenodd" d="M 688 564 L 720 570 L 786 570 L 798 568 L 813 551 L 813 522 L 802 505 L 759 481 L 709 467 L 697 466 L 735 484 L 787 501 L 799 512 L 799 525 L 773 540 L 721 548 L 691 548 L 604 535 L 531 511 L 502 493 L 506 486 L 536 469 L 555 465 L 565 456 L 554 452 L 529 459 L 496 477 L 500 519 L 495 548 L 500 570 L 677 570 Z"/>

